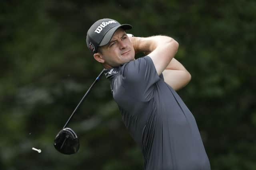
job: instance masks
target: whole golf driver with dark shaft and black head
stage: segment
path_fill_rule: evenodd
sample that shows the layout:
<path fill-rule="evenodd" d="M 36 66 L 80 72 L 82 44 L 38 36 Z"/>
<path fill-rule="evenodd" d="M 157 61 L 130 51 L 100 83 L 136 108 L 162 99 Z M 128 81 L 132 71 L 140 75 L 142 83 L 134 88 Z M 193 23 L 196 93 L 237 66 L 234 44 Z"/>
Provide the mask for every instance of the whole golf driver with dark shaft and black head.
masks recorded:
<path fill-rule="evenodd" d="M 86 98 L 86 96 L 89 94 L 92 87 L 95 85 L 96 82 L 100 79 L 100 76 L 102 75 L 104 70 L 100 72 L 98 77 L 94 80 L 90 88 L 87 90 L 87 92 L 84 94 L 84 97 L 81 99 L 81 101 L 78 103 L 76 108 L 74 109 L 73 113 L 69 117 L 68 121 L 62 128 L 62 130 L 56 135 L 54 139 L 54 147 L 56 150 L 63 154 L 74 154 L 79 150 L 79 140 L 76 135 L 76 133 L 69 127 L 66 127 L 70 119 L 74 116 L 74 113 L 80 106 L 80 104 L 83 102 L 83 100 Z"/>

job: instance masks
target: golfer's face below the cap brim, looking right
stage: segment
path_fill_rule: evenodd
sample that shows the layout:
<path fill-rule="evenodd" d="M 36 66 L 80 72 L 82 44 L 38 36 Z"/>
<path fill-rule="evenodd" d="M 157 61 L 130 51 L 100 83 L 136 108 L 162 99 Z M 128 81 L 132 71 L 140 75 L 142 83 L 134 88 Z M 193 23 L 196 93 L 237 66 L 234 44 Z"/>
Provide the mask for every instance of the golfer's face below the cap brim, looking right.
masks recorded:
<path fill-rule="evenodd" d="M 134 60 L 134 47 L 122 28 L 118 28 L 107 45 L 101 47 L 104 67 L 120 66 Z"/>

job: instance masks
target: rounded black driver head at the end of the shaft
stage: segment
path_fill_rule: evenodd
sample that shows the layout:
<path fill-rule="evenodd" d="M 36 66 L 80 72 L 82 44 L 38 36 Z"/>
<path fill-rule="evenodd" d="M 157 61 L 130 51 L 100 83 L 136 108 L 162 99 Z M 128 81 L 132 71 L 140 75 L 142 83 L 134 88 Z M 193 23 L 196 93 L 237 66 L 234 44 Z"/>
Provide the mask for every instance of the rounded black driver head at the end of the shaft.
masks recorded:
<path fill-rule="evenodd" d="M 63 154 L 74 154 L 79 150 L 79 140 L 76 133 L 66 127 L 54 139 L 54 147 Z"/>

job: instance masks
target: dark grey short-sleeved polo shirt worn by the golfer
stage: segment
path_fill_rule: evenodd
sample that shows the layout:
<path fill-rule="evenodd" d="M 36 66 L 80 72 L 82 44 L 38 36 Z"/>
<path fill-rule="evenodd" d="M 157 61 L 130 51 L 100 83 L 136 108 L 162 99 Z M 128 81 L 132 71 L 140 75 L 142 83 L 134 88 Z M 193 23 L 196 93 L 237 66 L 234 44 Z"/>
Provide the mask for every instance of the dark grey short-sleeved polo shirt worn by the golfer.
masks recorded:
<path fill-rule="evenodd" d="M 105 70 L 144 170 L 210 170 L 194 116 L 148 56 Z"/>

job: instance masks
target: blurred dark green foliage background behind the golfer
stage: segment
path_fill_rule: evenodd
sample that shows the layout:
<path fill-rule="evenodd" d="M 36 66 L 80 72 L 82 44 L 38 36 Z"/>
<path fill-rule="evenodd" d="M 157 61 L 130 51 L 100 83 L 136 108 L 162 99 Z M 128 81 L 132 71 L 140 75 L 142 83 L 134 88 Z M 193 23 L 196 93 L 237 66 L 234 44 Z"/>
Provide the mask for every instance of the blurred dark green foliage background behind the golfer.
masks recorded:
<path fill-rule="evenodd" d="M 255 0 L 3 0 L 0 11 L 0 170 L 142 170 L 105 76 L 69 124 L 79 152 L 53 146 L 102 70 L 85 41 L 101 18 L 176 39 L 176 59 L 192 74 L 178 94 L 212 170 L 256 170 Z"/>

